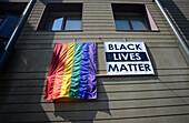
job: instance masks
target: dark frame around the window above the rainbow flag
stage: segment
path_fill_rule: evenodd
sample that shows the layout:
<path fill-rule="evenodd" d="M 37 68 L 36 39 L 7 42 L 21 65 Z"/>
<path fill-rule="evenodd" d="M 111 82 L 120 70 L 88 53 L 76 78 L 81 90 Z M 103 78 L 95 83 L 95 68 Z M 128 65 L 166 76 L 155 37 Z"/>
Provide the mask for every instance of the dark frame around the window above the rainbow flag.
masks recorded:
<path fill-rule="evenodd" d="M 81 6 L 81 10 L 80 11 L 74 11 L 72 12 L 71 10 L 69 11 L 51 11 L 51 8 L 49 9 L 48 6 L 70 6 L 70 4 L 78 4 Z M 68 8 L 68 7 L 67 7 Z M 40 22 L 38 23 L 38 28 L 37 31 L 43 31 L 43 32 L 81 32 L 83 31 L 83 21 L 82 21 L 82 11 L 83 11 L 83 3 L 81 2 L 77 2 L 77 3 L 70 3 L 70 2 L 61 2 L 61 3 L 47 3 L 44 11 L 42 13 L 42 17 L 40 18 Z M 57 13 L 61 13 L 61 17 L 63 17 L 63 22 L 62 22 L 62 30 L 52 30 L 50 29 L 50 27 L 47 29 L 47 24 L 49 23 L 49 19 L 48 21 L 43 22 L 43 20 L 46 20 L 48 18 L 48 16 L 50 16 L 51 13 L 57 12 Z M 79 18 L 81 20 L 81 29 L 80 30 L 64 30 L 66 28 L 66 20 L 68 17 L 73 17 L 74 14 L 72 13 L 79 13 Z M 42 25 L 41 25 L 42 24 Z M 51 28 L 52 28 L 53 21 L 51 23 Z"/>

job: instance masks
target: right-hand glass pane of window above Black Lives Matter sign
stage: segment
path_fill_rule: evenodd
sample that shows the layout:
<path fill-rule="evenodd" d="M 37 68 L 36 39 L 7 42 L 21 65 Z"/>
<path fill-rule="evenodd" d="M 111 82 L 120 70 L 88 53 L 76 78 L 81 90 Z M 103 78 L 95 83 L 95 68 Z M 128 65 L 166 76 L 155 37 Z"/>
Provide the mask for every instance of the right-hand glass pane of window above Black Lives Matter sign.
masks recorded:
<path fill-rule="evenodd" d="M 147 30 L 147 25 L 143 20 L 131 20 L 133 30 Z"/>

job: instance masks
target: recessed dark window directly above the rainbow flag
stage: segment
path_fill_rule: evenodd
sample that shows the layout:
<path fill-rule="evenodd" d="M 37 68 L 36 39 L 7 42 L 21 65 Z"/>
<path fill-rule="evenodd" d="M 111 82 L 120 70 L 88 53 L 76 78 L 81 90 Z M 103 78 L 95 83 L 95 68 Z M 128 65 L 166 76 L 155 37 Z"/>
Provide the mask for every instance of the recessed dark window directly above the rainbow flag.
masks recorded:
<path fill-rule="evenodd" d="M 81 3 L 47 4 L 38 30 L 47 31 L 82 30 L 82 4 Z"/>

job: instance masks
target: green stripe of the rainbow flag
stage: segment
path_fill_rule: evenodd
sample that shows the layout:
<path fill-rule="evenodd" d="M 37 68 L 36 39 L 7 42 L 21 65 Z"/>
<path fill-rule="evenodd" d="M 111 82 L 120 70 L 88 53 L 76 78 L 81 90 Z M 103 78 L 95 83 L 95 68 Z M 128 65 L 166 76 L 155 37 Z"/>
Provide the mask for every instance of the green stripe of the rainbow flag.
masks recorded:
<path fill-rule="evenodd" d="M 82 48 L 82 43 L 76 43 L 73 68 L 72 68 L 72 75 L 71 75 L 71 85 L 70 85 L 70 92 L 69 92 L 70 98 L 78 98 L 79 80 L 80 80 L 81 48 Z"/>

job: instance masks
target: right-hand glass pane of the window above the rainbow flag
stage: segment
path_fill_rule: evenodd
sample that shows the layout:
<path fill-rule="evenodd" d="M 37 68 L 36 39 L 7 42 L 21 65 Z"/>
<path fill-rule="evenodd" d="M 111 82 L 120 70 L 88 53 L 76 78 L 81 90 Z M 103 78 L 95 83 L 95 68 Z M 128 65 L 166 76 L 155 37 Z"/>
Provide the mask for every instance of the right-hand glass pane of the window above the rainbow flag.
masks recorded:
<path fill-rule="evenodd" d="M 68 18 L 64 30 L 81 30 L 81 19 Z"/>

